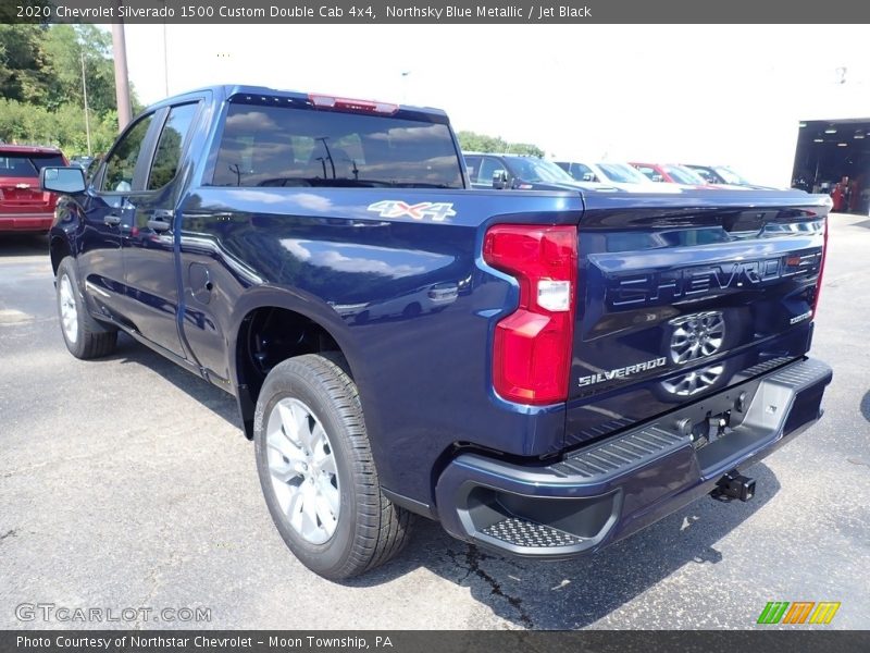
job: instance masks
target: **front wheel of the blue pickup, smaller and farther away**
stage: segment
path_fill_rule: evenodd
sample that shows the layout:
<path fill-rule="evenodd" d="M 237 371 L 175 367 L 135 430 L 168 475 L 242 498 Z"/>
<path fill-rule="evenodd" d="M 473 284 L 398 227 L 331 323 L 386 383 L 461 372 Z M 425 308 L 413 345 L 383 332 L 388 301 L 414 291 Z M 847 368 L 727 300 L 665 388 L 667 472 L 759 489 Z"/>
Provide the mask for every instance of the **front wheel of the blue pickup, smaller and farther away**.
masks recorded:
<path fill-rule="evenodd" d="M 55 286 L 61 333 L 70 354 L 83 360 L 111 354 L 117 343 L 117 330 L 104 326 L 88 312 L 72 257 L 58 266 Z"/>

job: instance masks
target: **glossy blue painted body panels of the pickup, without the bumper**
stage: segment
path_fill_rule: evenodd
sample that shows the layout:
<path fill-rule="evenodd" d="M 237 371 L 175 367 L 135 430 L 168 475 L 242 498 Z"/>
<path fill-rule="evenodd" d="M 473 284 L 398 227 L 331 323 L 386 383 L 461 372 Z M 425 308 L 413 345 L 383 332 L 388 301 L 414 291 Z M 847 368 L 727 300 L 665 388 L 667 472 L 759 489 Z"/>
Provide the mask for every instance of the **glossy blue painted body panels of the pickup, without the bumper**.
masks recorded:
<path fill-rule="evenodd" d="M 210 186 L 223 116 L 239 96 L 289 103 L 307 97 L 213 87 L 150 108 L 158 124 L 171 106 L 202 103 L 175 180 L 158 194 L 120 197 L 90 188 L 67 209 L 74 218 L 52 233 L 69 238 L 83 280 L 109 288 L 109 298 L 95 299 L 96 315 L 236 394 L 244 421 L 256 398 L 239 366 L 246 319 L 277 307 L 320 325 L 349 362 L 381 481 L 398 495 L 433 505 L 435 481 L 457 451 L 533 461 L 676 405 L 657 394 L 659 373 L 591 394 L 575 387 L 568 403 L 554 406 L 498 397 L 490 378 L 493 332 L 515 308 L 518 286 L 481 258 L 492 224 L 579 225 L 572 386 L 591 370 L 660 356 L 667 321 L 705 307 L 724 309 L 728 321 L 742 325 L 719 357 L 732 368 L 730 382 L 753 365 L 798 357 L 808 347 L 808 324 L 776 326 L 805 308 L 800 293 L 808 279 L 773 284 L 775 289 L 720 287 L 691 300 L 650 299 L 641 308 L 614 306 L 611 297 L 626 276 L 711 263 L 713 249 L 692 241 L 698 234 L 732 247 L 732 258 L 818 249 L 819 219 L 828 208 L 815 196 Z M 397 115 L 447 122 L 430 109 L 403 107 Z M 149 135 L 151 148 L 157 133 Z M 455 214 L 435 222 L 369 210 L 389 200 L 447 202 Z M 126 235 L 107 236 L 99 226 L 112 202 L 124 207 Z M 173 212 L 171 230 L 161 234 L 145 220 L 158 209 Z M 781 233 L 736 234 L 735 220 L 747 211 L 770 213 L 762 222 L 781 225 Z"/>

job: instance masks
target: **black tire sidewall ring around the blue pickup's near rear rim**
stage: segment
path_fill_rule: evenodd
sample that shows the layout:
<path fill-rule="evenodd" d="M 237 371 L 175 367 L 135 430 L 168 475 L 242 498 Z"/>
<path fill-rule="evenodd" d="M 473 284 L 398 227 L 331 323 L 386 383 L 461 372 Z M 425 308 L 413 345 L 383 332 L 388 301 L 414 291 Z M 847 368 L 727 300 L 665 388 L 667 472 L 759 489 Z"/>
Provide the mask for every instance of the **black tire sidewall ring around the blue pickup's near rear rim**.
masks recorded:
<path fill-rule="evenodd" d="M 287 546 L 312 571 L 328 577 L 336 575 L 346 565 L 352 551 L 359 515 L 359 497 L 353 482 L 357 456 L 350 446 L 347 427 L 333 405 L 335 399 L 322 382 L 302 362 L 287 360 L 281 367 L 284 368 L 283 373 L 266 379 L 257 403 L 253 434 L 257 471 L 269 512 Z M 296 532 L 272 488 L 265 430 L 272 409 L 285 398 L 299 399 L 311 409 L 326 431 L 335 455 L 341 505 L 336 530 L 323 544 L 312 544 Z"/>

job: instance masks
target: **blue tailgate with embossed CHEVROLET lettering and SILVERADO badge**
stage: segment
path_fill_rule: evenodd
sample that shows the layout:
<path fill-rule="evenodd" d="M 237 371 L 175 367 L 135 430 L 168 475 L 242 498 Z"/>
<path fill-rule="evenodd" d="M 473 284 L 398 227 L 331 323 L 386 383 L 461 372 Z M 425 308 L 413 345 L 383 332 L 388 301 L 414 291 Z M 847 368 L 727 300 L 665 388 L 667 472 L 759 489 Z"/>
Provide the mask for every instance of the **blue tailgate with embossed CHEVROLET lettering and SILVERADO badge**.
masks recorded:
<path fill-rule="evenodd" d="M 568 446 L 809 348 L 825 197 L 587 194 L 586 205 Z"/>

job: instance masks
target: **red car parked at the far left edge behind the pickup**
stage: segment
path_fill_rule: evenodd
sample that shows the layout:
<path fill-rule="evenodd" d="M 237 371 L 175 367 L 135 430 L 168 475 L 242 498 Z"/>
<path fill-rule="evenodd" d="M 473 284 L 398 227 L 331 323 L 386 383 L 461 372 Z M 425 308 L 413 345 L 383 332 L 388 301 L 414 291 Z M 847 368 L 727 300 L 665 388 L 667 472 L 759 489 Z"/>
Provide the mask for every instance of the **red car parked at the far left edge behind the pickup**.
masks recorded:
<path fill-rule="evenodd" d="M 39 189 L 39 171 L 67 165 L 52 147 L 0 144 L 0 232 L 46 233 L 54 219 L 53 193 Z"/>

